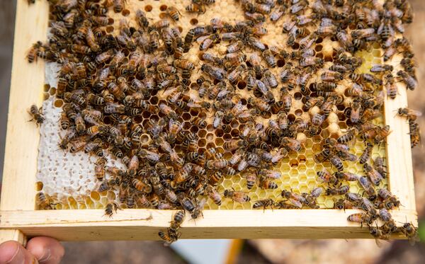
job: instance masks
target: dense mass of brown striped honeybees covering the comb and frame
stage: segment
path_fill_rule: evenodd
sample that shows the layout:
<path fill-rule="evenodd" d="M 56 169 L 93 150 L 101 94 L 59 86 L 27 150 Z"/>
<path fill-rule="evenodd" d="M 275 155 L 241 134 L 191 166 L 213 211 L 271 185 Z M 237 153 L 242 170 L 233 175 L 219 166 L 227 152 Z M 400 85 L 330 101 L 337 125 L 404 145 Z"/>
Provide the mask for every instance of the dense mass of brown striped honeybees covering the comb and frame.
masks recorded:
<path fill-rule="evenodd" d="M 124 0 L 49 2 L 50 38 L 33 45 L 28 62 L 41 58 L 61 65 L 55 96 L 65 102 L 60 127 L 66 134 L 60 148 L 98 156 L 97 191 L 118 190 L 106 215 L 120 205 L 179 209 L 170 227 L 159 232 L 172 243 L 181 235 L 186 212 L 197 219 L 208 199 L 216 205 L 222 199 L 251 200 L 242 190 L 220 193 L 217 184 L 223 178 L 239 174 L 248 190 L 280 188 L 273 180 L 282 174 L 273 166 L 304 148 L 303 139 L 320 134 L 328 117 L 339 113 L 346 132 L 324 138 L 314 155 L 316 163 L 334 168 L 333 173 L 317 171 L 322 187 L 300 194 L 283 189 L 281 200 L 255 200 L 253 208 L 315 209 L 320 195 L 343 197 L 334 199 L 334 208 L 363 210 L 348 221 L 368 226 L 377 241 L 395 232 L 416 241 L 416 228 L 410 223 L 397 227 L 388 211 L 400 206 L 397 197 L 379 188 L 387 177 L 385 160 L 371 158 L 391 132 L 375 122 L 382 117 L 385 96 L 397 97 L 397 82 L 409 90 L 417 86 L 412 47 L 402 36 L 404 24 L 412 23 L 408 1 L 241 0 L 235 2 L 244 11 L 243 21 L 212 18 L 186 35 L 178 27 L 181 16 L 203 16 L 214 0 L 193 0 L 185 10 L 168 6 L 159 21 L 135 10 L 137 25 L 123 19 L 119 33 L 106 30 L 113 23 L 108 12 L 125 10 Z M 268 24 L 286 41 L 264 43 Z M 330 59 L 314 49 L 324 40 L 338 44 Z M 213 49 L 219 44 L 224 52 Z M 364 61 L 356 54 L 373 45 L 383 50 L 383 63 L 361 73 Z M 193 62 L 186 54 L 196 48 L 199 61 Z M 402 54 L 399 65 L 387 64 L 395 54 Z M 308 118 L 289 114 L 294 91 L 300 92 Z M 340 110 L 347 98 L 349 107 Z M 415 147 L 420 143 L 415 120 L 421 114 L 397 111 L 407 117 Z M 30 114 L 37 124 L 43 122 L 36 105 Z M 185 115 L 191 116 L 188 127 Z M 150 118 L 140 122 L 142 116 Z M 201 150 L 200 130 L 209 127 L 221 137 L 233 131 L 234 122 L 241 124 L 239 132 L 225 138 L 222 147 Z M 144 137 L 152 139 L 150 144 L 142 144 Z M 350 152 L 356 139 L 365 142 L 360 156 Z M 127 169 L 106 166 L 106 157 L 120 159 Z M 363 175 L 346 171 L 343 161 L 362 164 Z M 358 182 L 361 194 L 350 193 L 348 182 Z M 55 205 L 43 193 L 38 202 L 42 209 Z"/>

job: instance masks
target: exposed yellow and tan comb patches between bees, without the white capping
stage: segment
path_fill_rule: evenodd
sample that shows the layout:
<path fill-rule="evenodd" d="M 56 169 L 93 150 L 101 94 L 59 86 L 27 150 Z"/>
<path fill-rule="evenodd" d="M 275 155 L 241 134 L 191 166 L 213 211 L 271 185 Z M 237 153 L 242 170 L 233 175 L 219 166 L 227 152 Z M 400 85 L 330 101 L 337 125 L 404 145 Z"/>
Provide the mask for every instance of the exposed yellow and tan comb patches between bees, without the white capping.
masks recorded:
<path fill-rule="evenodd" d="M 242 8 L 239 6 L 237 1 L 217 1 L 216 4 L 212 4 L 207 7 L 207 11 L 202 15 L 197 15 L 194 13 L 186 13 L 185 6 L 190 1 L 175 1 L 173 6 L 179 9 L 183 16 L 180 17 L 180 21 L 178 23 L 171 22 L 171 26 L 179 25 L 181 27 L 181 34 L 184 38 L 189 28 L 193 28 L 194 25 L 206 25 L 210 23 L 211 18 L 220 17 L 223 21 L 234 22 L 234 21 L 242 21 L 244 20 L 244 15 Z M 166 6 L 171 4 L 171 1 L 127 1 L 126 9 L 128 9 L 128 16 L 121 16 L 121 14 L 115 14 L 110 11 L 110 16 L 113 16 L 115 22 L 112 26 L 108 26 L 108 32 L 112 32 L 113 30 L 118 30 L 120 19 L 124 18 L 130 22 L 130 25 L 135 25 L 135 21 L 133 18 L 135 17 L 135 11 L 137 9 L 142 9 L 146 12 L 147 17 L 149 18 L 150 23 L 153 21 L 157 21 L 159 18 L 164 18 L 166 15 L 164 12 Z M 126 13 L 127 15 L 127 13 Z M 280 22 L 285 20 L 285 18 L 281 18 Z M 171 20 L 170 20 L 171 21 Z M 281 27 L 276 26 L 273 23 L 266 23 L 266 28 L 268 29 L 268 34 L 261 38 L 261 41 L 268 45 L 280 45 L 282 42 L 286 42 L 284 35 L 280 32 Z M 316 57 L 324 58 L 327 64 L 330 64 L 332 59 L 332 50 L 337 46 L 337 42 L 333 42 L 330 39 L 324 39 L 322 42 L 318 42 L 315 50 Z M 195 65 L 196 69 L 193 71 L 193 75 L 191 76 L 191 82 L 193 86 L 196 86 L 196 79 L 200 75 L 200 62 L 198 58 L 198 43 L 193 42 L 195 47 L 191 48 L 191 51 L 188 54 L 184 54 L 184 58 L 191 60 Z M 211 49 L 208 50 L 210 53 L 222 54 L 223 50 L 227 42 L 220 43 L 215 45 Z M 292 52 L 293 50 L 288 50 L 288 52 Z M 254 52 L 254 51 L 252 51 Z M 246 53 L 246 57 L 249 57 L 250 53 Z M 361 68 L 358 69 L 358 73 L 370 73 L 370 67 L 373 64 L 379 64 L 382 62 L 382 50 L 378 49 L 376 46 L 372 47 L 371 50 L 358 52 L 356 56 L 363 57 L 364 63 Z M 264 62 L 262 62 L 264 64 Z M 326 65 L 326 64 L 325 64 Z M 278 76 L 278 72 L 280 71 L 280 67 L 276 67 L 275 69 L 271 69 L 273 74 Z M 314 76 L 310 79 L 309 83 L 312 83 L 319 78 L 320 71 L 317 76 Z M 308 86 L 307 84 L 307 86 Z M 193 87 L 191 86 L 191 87 Z M 245 90 L 244 90 L 245 91 Z M 336 91 L 344 92 L 344 89 L 339 86 Z M 278 89 L 273 89 L 273 93 L 278 93 Z M 297 87 L 295 90 L 290 91 L 290 94 L 293 96 L 293 107 L 290 110 L 289 115 L 292 115 L 293 118 L 302 117 L 304 119 L 310 119 L 310 114 L 302 111 L 302 101 L 297 100 L 297 94 L 300 93 L 300 88 Z M 45 99 L 53 96 L 55 94 L 55 88 L 46 86 L 45 91 L 43 93 L 43 97 Z M 161 103 L 161 100 L 164 100 L 166 96 L 164 94 L 158 94 L 152 101 L 157 101 Z M 241 94 L 243 103 L 246 104 L 246 100 L 248 98 L 247 94 Z M 208 100 L 207 100 L 208 101 Z M 55 101 L 54 105 L 57 108 L 62 106 L 62 101 Z M 345 107 L 349 106 L 350 101 L 344 101 Z M 336 107 L 335 107 L 336 108 Z M 334 109 L 336 110 L 336 109 Z M 191 127 L 191 121 L 195 116 L 200 116 L 205 118 L 208 122 L 212 119 L 212 116 L 205 116 L 203 113 L 183 113 L 177 112 L 181 116 L 181 121 L 183 121 L 183 129 L 189 131 L 189 127 Z M 338 113 L 344 113 L 343 110 L 338 110 Z M 338 125 L 338 131 L 336 134 L 333 134 L 334 137 L 341 135 L 346 131 L 347 125 L 344 122 L 344 115 L 338 115 L 339 120 L 337 122 L 333 122 Z M 143 113 L 142 118 L 139 118 L 135 121 L 137 122 L 147 122 L 149 118 L 158 118 L 157 115 L 151 115 L 150 113 Z M 258 120 L 261 122 L 267 122 L 268 120 Z M 295 193 L 309 193 L 313 188 L 322 186 L 326 190 L 326 186 L 323 183 L 320 183 L 317 180 L 317 171 L 322 171 L 326 168 L 328 171 L 334 172 L 335 169 L 332 168 L 329 162 L 324 163 L 316 163 L 313 159 L 314 154 L 317 154 L 321 150 L 320 142 L 325 137 L 329 137 L 329 128 L 327 127 L 332 122 L 324 122 L 322 126 L 322 133 L 318 136 L 307 138 L 305 142 L 303 142 L 303 147 L 299 153 L 291 152 L 287 157 L 285 157 L 278 165 L 274 166 L 276 171 L 280 171 L 282 173 L 282 177 L 274 180 L 277 183 L 278 188 L 275 190 L 263 190 L 259 188 L 257 185 L 251 190 L 246 188 L 246 179 L 241 175 L 236 174 L 234 176 L 225 176 L 217 185 L 217 190 L 220 193 L 224 193 L 226 189 L 234 188 L 234 190 L 242 190 L 249 194 L 251 197 L 251 202 L 239 203 L 234 202 L 229 198 L 222 197 L 222 205 L 217 206 L 212 202 L 212 200 L 208 199 L 207 205 L 205 205 L 205 209 L 220 209 L 220 210 L 232 210 L 232 209 L 251 209 L 253 203 L 256 200 L 271 198 L 273 200 L 281 200 L 280 192 L 283 189 L 293 190 Z M 383 119 L 378 118 L 377 124 L 382 125 Z M 210 147 L 215 147 L 218 152 L 225 153 L 222 145 L 233 136 L 239 134 L 239 131 L 242 129 L 241 124 L 239 122 L 233 122 L 229 124 L 229 130 L 226 132 L 218 132 L 217 130 L 212 129 L 212 126 L 209 125 L 204 129 L 194 129 L 192 128 L 191 132 L 196 132 L 199 139 L 199 147 L 200 151 L 205 151 Z M 217 137 L 217 133 L 220 137 Z M 364 142 L 357 137 L 356 143 L 351 146 L 351 153 L 356 154 L 356 156 L 360 156 L 365 147 Z M 225 154 L 225 157 L 228 157 L 229 154 Z M 385 159 L 385 144 L 380 144 L 379 146 L 375 146 L 373 148 L 372 159 L 375 157 L 381 156 Z M 349 162 L 344 161 L 344 171 L 348 171 L 351 173 L 356 173 L 358 175 L 363 175 L 363 166 L 357 162 Z M 94 176 L 85 176 L 91 177 Z M 95 179 L 96 180 L 96 179 Z M 348 182 L 350 185 L 350 192 L 352 193 L 362 193 L 362 188 L 358 182 Z M 379 188 L 387 188 L 387 180 L 384 179 L 380 183 Z M 90 193 L 86 193 L 86 195 L 79 195 L 78 197 L 72 197 L 71 195 L 61 195 L 58 193 L 51 193 L 53 200 L 60 200 L 60 203 L 55 205 L 56 209 L 103 209 L 105 205 L 111 200 L 115 200 L 116 193 L 113 191 L 108 191 L 104 193 L 97 193 L 96 191 L 91 191 Z M 338 199 L 338 196 L 327 196 L 321 195 L 317 198 L 317 202 L 321 208 L 331 208 L 334 206 L 333 199 Z M 125 208 L 125 205 L 121 205 L 121 207 Z"/>

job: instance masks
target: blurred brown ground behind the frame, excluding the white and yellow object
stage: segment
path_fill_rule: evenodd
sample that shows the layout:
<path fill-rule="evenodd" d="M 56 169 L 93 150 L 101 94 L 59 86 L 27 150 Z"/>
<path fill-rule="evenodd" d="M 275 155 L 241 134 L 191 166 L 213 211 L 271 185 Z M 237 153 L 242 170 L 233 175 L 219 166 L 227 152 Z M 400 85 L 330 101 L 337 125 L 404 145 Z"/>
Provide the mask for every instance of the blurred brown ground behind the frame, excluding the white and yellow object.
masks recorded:
<path fill-rule="evenodd" d="M 24 1 L 24 0 L 18 0 Z M 419 65 L 417 77 L 419 84 L 425 84 L 425 1 L 411 0 L 414 7 L 414 23 L 409 25 L 408 38 L 414 45 L 416 62 Z M 0 177 L 3 170 L 4 142 L 6 132 L 6 118 L 8 108 L 8 88 L 11 74 L 11 54 L 13 44 L 14 9 L 16 0 L 0 0 Z M 409 92 L 409 107 L 425 113 L 425 96 L 423 89 Z M 425 131 L 425 120 L 419 120 L 422 132 Z M 425 134 L 422 134 L 425 138 Z M 416 207 L 419 217 L 425 220 L 425 156 L 424 147 L 413 150 L 414 175 L 416 189 Z M 332 263 L 351 263 L 348 256 L 342 252 L 334 252 L 332 247 L 347 248 L 352 251 L 351 245 L 358 241 L 289 241 L 263 240 L 251 241 L 244 246 L 238 263 L 321 263 L 312 252 L 329 252 Z M 360 242 L 361 243 L 361 242 Z M 251 246 L 252 245 L 252 246 Z M 108 241 L 64 243 L 66 255 L 63 263 L 186 263 L 170 248 L 164 248 L 162 243 L 153 241 Z M 263 253 L 264 258 L 257 249 Z M 365 258 L 356 260 L 359 263 L 425 263 L 425 246 L 416 244 L 409 246 L 406 241 L 395 241 L 385 249 L 372 248 L 376 251 L 373 257 L 365 256 L 363 251 L 353 252 Z M 293 252 L 310 252 L 309 254 L 295 254 Z M 339 251 L 340 252 L 340 251 Z"/>

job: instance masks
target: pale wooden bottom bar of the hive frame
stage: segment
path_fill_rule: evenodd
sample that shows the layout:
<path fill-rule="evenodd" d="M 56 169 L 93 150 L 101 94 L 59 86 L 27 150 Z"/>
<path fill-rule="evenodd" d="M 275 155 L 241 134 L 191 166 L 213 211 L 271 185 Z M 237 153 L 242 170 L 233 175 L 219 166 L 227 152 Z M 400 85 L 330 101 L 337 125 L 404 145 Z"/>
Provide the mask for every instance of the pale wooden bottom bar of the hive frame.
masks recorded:
<path fill-rule="evenodd" d="M 120 210 L 110 219 L 103 210 L 5 211 L 0 229 L 16 228 L 26 236 L 61 241 L 157 240 L 173 210 Z M 186 220 L 182 239 L 370 239 L 367 228 L 347 222 L 356 210 L 205 210 L 203 219 Z M 417 225 L 416 212 L 392 211 L 398 225 Z M 402 239 L 402 236 L 394 236 Z"/>

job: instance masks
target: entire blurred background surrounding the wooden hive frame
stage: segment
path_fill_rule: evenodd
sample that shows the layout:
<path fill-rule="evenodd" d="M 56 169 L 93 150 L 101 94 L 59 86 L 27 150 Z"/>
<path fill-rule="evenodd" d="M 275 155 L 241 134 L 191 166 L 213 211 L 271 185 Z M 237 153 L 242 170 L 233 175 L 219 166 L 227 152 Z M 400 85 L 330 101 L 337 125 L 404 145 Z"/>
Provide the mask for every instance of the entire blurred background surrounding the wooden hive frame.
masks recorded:
<path fill-rule="evenodd" d="M 25 1 L 25 0 L 18 0 Z M 135 1 L 135 0 L 130 0 Z M 419 86 L 425 84 L 425 1 L 411 0 L 414 23 L 407 37 L 414 45 Z M 0 0 L 0 178 L 3 175 L 4 143 L 11 77 L 13 27 L 16 0 Z M 425 91 L 409 92 L 409 107 L 425 113 Z M 422 138 L 425 120 L 421 118 Z M 422 220 L 419 230 L 425 241 L 425 149 L 413 150 L 416 208 Z M 159 241 L 66 242 L 62 263 L 425 263 L 425 244 L 407 241 L 384 243 L 373 240 L 283 240 L 179 241 L 171 248 Z M 196 248 L 195 248 L 196 247 Z M 193 254 L 196 253 L 196 254 Z"/>

